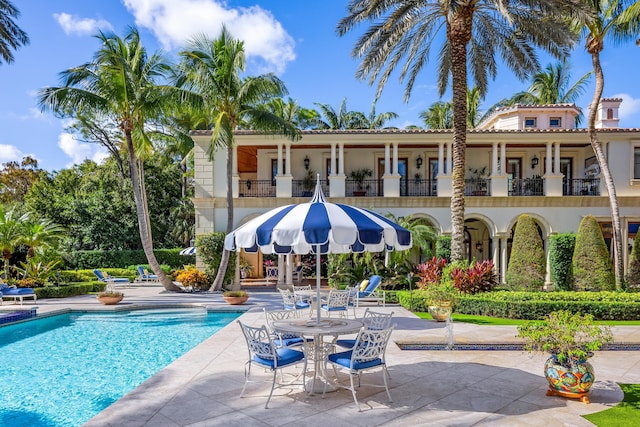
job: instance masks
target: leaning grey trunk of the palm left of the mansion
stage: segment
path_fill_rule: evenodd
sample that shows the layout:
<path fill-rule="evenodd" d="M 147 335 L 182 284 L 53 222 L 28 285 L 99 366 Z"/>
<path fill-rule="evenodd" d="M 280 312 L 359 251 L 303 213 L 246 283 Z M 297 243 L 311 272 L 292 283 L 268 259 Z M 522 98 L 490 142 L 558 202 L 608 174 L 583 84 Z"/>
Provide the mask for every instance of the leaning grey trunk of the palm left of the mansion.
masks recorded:
<path fill-rule="evenodd" d="M 131 131 L 125 131 L 127 140 L 127 151 L 129 155 L 129 176 L 131 177 L 131 184 L 133 187 L 133 198 L 136 203 L 136 214 L 138 216 L 138 229 L 140 230 L 140 241 L 142 242 L 142 249 L 147 256 L 149 267 L 153 270 L 153 273 L 158 276 L 162 286 L 168 291 L 181 291 L 180 287 L 176 286 L 171 279 L 164 274 L 156 256 L 153 253 L 153 240 L 150 232 L 149 215 L 146 206 L 145 195 L 142 194 L 141 180 L 144 177 L 140 175 L 138 169 L 138 159 L 136 159 L 135 151 L 133 148 L 133 140 L 131 139 Z"/>

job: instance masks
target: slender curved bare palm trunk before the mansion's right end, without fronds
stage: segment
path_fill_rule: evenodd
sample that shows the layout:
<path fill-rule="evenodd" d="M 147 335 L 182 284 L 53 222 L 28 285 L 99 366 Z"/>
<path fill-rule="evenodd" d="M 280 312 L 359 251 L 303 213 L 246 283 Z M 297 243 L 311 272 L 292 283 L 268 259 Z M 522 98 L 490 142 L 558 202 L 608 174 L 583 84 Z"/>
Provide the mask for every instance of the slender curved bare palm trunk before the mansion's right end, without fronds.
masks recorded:
<path fill-rule="evenodd" d="M 618 196 L 616 195 L 616 187 L 609 170 L 609 163 L 602 150 L 602 144 L 598 139 L 598 132 L 596 130 L 596 113 L 600 100 L 602 98 L 602 91 L 604 89 L 604 73 L 602 66 L 600 65 L 600 50 L 598 46 L 593 46 L 591 50 L 591 62 L 593 63 L 593 72 L 596 76 L 596 87 L 593 94 L 593 100 L 589 109 L 589 139 L 591 140 L 591 147 L 598 160 L 600 166 L 600 173 L 604 178 L 605 185 L 607 187 L 607 193 L 609 193 L 609 209 L 611 210 L 611 225 L 613 230 L 613 265 L 615 269 L 616 277 L 616 289 L 622 290 L 624 287 L 624 257 L 622 252 L 622 227 L 620 225 L 620 209 L 618 208 Z"/>

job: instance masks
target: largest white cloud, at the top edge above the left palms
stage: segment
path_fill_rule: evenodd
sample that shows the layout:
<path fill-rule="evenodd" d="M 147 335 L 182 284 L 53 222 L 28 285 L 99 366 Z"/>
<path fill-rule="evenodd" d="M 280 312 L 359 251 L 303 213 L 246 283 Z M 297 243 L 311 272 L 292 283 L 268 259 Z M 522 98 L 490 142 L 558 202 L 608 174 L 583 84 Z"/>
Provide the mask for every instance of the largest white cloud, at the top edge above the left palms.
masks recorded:
<path fill-rule="evenodd" d="M 281 74 L 295 59 L 293 38 L 260 6 L 230 8 L 222 0 L 123 0 L 136 25 L 151 30 L 165 49 L 184 46 L 196 34 L 217 37 L 225 24 L 243 40 L 247 60 L 259 72 Z"/>

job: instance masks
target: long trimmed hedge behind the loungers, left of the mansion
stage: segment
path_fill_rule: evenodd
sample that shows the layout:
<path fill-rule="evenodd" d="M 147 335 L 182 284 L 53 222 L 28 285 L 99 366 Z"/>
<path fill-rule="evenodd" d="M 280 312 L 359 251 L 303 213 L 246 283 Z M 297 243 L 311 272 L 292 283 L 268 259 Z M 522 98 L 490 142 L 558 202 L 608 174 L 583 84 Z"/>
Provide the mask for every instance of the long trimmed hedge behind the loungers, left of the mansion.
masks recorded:
<path fill-rule="evenodd" d="M 195 255 L 180 255 L 182 249 L 156 249 L 153 253 L 160 264 L 182 268 L 184 264 L 195 264 Z M 65 270 L 94 268 L 126 268 L 130 265 L 147 264 L 143 250 L 120 251 L 75 251 L 63 255 Z"/>

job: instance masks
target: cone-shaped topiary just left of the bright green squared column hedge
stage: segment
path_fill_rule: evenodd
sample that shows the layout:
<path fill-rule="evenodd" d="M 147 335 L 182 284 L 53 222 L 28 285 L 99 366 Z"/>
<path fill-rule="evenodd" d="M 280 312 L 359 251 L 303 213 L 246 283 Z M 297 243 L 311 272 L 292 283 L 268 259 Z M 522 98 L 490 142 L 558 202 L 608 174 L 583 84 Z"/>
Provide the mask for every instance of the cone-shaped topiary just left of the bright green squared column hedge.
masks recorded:
<path fill-rule="evenodd" d="M 507 268 L 507 287 L 519 291 L 541 291 L 546 273 L 546 256 L 538 226 L 529 215 L 520 215 Z"/>

